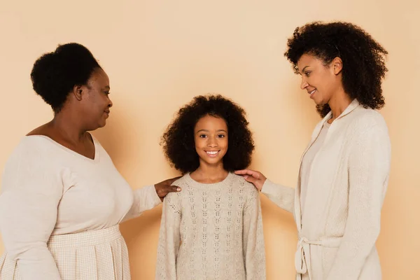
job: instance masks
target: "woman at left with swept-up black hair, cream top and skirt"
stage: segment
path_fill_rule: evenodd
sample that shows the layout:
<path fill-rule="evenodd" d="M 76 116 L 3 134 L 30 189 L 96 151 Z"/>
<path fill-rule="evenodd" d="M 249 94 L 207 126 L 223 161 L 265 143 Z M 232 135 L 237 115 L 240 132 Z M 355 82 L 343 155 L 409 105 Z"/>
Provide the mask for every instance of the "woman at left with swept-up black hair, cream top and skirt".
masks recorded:
<path fill-rule="evenodd" d="M 169 179 L 133 192 L 88 132 L 104 127 L 112 102 L 108 76 L 83 45 L 40 57 L 31 80 L 55 116 L 6 163 L 0 279 L 130 279 L 118 224 L 180 189 Z"/>

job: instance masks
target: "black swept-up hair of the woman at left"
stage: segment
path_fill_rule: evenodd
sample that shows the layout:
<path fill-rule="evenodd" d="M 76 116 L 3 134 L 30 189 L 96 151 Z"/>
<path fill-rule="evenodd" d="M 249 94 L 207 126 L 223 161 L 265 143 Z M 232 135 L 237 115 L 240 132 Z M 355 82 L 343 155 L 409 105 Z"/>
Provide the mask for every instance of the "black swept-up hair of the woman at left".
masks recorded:
<path fill-rule="evenodd" d="M 85 85 L 98 68 L 101 66 L 85 46 L 66 43 L 36 60 L 31 71 L 32 86 L 52 110 L 58 113 L 73 87 Z"/>

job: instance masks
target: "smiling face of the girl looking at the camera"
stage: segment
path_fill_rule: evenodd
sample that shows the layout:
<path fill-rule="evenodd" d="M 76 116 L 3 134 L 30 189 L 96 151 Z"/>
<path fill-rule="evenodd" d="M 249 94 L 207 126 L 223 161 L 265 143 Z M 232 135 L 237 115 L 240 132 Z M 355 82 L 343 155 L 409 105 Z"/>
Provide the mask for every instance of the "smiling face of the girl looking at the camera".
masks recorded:
<path fill-rule="evenodd" d="M 228 125 L 223 118 L 204 116 L 194 129 L 195 151 L 200 166 L 223 166 L 223 156 L 228 151 Z"/>

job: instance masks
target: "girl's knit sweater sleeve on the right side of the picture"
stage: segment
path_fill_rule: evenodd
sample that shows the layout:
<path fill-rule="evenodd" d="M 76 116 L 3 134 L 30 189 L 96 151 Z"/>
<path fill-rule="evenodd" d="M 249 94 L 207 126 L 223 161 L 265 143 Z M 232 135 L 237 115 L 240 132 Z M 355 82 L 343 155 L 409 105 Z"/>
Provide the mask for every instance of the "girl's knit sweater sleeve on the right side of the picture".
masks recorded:
<path fill-rule="evenodd" d="M 265 245 L 258 190 L 251 193 L 244 206 L 244 260 L 247 280 L 265 279 Z"/>

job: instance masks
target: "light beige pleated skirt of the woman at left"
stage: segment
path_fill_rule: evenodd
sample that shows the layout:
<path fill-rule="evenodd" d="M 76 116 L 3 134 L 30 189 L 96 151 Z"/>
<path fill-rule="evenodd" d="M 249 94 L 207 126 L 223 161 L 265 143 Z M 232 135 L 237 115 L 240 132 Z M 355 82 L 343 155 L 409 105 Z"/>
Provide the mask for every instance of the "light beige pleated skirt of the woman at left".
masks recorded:
<path fill-rule="evenodd" d="M 52 235 L 48 248 L 62 280 L 130 280 L 127 246 L 118 225 L 104 230 Z M 19 262 L 3 254 L 0 280 L 20 279 Z"/>

